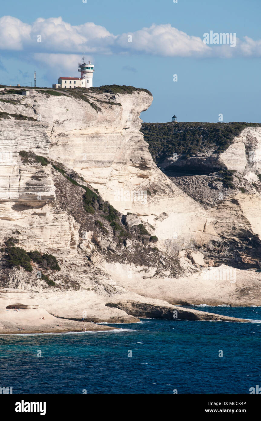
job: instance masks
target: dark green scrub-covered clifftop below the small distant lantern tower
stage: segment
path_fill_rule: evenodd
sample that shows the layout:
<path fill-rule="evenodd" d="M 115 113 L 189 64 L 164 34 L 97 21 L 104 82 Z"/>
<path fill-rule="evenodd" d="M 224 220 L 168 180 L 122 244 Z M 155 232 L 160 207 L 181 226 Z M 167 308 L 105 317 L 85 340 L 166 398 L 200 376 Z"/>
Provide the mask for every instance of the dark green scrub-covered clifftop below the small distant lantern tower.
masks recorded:
<path fill-rule="evenodd" d="M 149 144 L 153 159 L 182 154 L 191 157 L 215 148 L 226 150 L 232 140 L 246 127 L 261 127 L 259 123 L 142 123 L 140 129 Z"/>

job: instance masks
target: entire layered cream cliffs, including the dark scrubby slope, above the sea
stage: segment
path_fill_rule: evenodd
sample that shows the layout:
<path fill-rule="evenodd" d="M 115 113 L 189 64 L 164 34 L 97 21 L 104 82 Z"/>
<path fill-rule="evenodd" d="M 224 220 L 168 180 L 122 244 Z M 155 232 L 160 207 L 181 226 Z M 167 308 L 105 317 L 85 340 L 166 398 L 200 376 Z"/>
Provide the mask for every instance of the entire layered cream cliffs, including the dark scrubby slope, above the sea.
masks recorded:
<path fill-rule="evenodd" d="M 86 320 L 130 322 L 132 315 L 105 304 L 142 301 L 142 296 L 155 300 L 151 279 L 158 298 L 168 300 L 169 285 L 171 304 L 193 303 L 190 294 L 182 296 L 180 282 L 186 280 L 190 290 L 193 274 L 203 276 L 203 266 L 225 263 L 242 273 L 260 268 L 260 168 L 246 151 L 261 148 L 261 128 L 244 129 L 214 158 L 208 152 L 217 171 L 237 171 L 235 188 L 224 185 L 219 173 L 211 180 L 169 177 L 153 161 L 140 132 L 140 112 L 150 106 L 150 93 L 92 88 L 79 97 L 70 91 L 54 95 L 36 89 L 22 97 L 0 89 L 1 287 L 33 291 L 45 309 L 71 318 L 66 291 L 81 290 L 80 305 L 74 297 L 77 320 L 87 307 Z M 91 192 L 94 206 L 90 212 L 88 204 L 87 213 L 84 192 Z M 14 237 L 26 253 L 56 256 L 61 271 L 45 267 L 53 283 L 37 277 L 37 264 L 30 273 L 6 266 L 5 244 Z M 213 297 L 212 282 L 206 280 L 194 303 L 208 296 L 212 304 L 231 299 L 233 305 L 251 305 L 257 281 L 251 278 L 249 296 L 245 282 L 237 294 L 229 281 L 228 288 L 216 283 Z M 55 295 L 47 301 L 51 290 Z M 255 305 L 258 300 L 259 294 Z"/>

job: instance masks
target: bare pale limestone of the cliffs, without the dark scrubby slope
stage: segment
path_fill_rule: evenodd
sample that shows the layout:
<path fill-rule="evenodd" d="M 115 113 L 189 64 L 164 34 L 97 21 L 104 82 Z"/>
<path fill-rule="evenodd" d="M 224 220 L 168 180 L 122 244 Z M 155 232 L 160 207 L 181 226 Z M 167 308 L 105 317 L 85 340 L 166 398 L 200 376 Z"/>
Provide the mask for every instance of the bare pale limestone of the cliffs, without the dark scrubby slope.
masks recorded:
<path fill-rule="evenodd" d="M 21 233 L 19 246 L 24 250 L 53 253 L 60 259 L 63 263 L 61 276 L 70 274 L 80 288 L 90 290 L 77 310 L 78 318 L 84 303 L 90 300 L 93 320 L 111 321 L 114 318 L 130 321 L 130 316 L 119 309 L 111 309 L 108 313 L 105 303 L 110 301 L 109 297 L 120 299 L 124 295 L 127 299 L 127 294 L 137 293 L 139 298 L 144 295 L 154 299 L 154 287 L 157 291 L 164 291 L 159 293 L 159 298 L 169 299 L 172 304 L 186 300 L 201 304 L 200 300 L 205 303 L 207 296 L 209 303 L 231 301 L 233 305 L 240 305 L 240 302 L 251 305 L 256 286 L 253 277 L 248 285 L 248 279 L 239 276 L 237 296 L 236 288 L 231 287 L 230 282 L 228 288 L 224 288 L 222 282 L 216 282 L 213 288 L 213 282 L 206 280 L 193 299 L 189 291 L 196 290 L 196 277 L 203 277 L 204 260 L 190 248 L 195 244 L 237 239 L 240 232 L 242 235 L 246 232 L 257 234 L 261 238 L 261 196 L 251 184 L 260 168 L 257 160 L 253 162 L 249 158 L 248 152 L 253 150 L 258 153 L 261 148 L 260 128 L 245 129 L 225 152 L 215 158 L 224 168 L 235 169 L 245 176 L 249 191 L 244 194 L 237 190 L 231 197 L 224 197 L 215 208 L 206 209 L 175 185 L 153 162 L 148 144 L 139 131 L 140 112 L 147 109 L 152 101 L 149 93 L 135 90 L 132 94 L 92 91 L 88 93 L 89 102 L 86 102 L 69 94 L 53 96 L 35 90 L 24 99 L 16 94 L 5 94 L 0 99 L 4 100 L 0 101 L 0 240 L 3 243 L 18 230 Z M 6 113 L 5 118 L 1 113 Z M 31 117 L 31 120 L 17 120 L 17 115 Z M 62 199 L 57 197 L 57 184 L 63 190 L 63 176 L 52 165 L 26 164 L 19 155 L 20 151 L 34 152 L 65 165 L 68 171 L 75 171 L 93 189 L 98 189 L 103 200 L 121 213 L 137 215 L 129 218 L 128 223 L 135 226 L 142 222 L 150 235 L 158 237 L 156 246 L 160 252 L 179 256 L 183 269 L 187 271 L 186 276 L 180 277 L 178 282 L 169 276 L 164 254 L 161 261 L 149 269 L 146 265 L 106 261 L 92 242 L 93 232 L 88 231 L 83 239 L 79 221 L 62 207 Z M 146 196 L 143 195 L 142 200 L 122 200 L 121 192 L 124 199 L 129 199 L 131 192 L 146 192 Z M 67 193 L 64 185 L 64 195 Z M 115 251 L 116 245 L 111 238 L 108 241 L 103 239 L 102 245 Z M 131 250 L 131 244 L 127 243 L 128 247 Z M 183 249 L 191 253 L 181 256 L 179 252 Z M 89 272 L 84 261 L 86 256 L 92 264 Z M 256 264 L 254 260 L 252 263 Z M 162 268 L 165 275 L 159 276 L 160 269 L 163 273 Z M 193 271 L 196 275 L 191 274 Z M 132 278 L 127 276 L 129 272 Z M 33 275 L 36 276 L 35 268 Z M 153 277 L 153 282 L 150 277 Z M 25 273 L 24 269 L 20 269 L 19 274 L 12 269 L 9 279 L 15 288 L 32 290 L 39 294 L 40 302 L 45 302 L 44 281 L 32 282 L 32 275 Z M 184 294 L 182 279 L 186 282 Z M 61 286 L 59 281 L 57 285 Z M 154 287 L 150 288 L 151 285 Z M 245 299 L 242 291 L 248 286 L 251 287 L 251 295 Z M 215 293 L 216 297 L 211 296 Z M 54 301 L 53 294 L 52 302 L 47 302 L 44 307 L 53 310 L 55 302 L 63 317 L 72 317 L 70 294 L 56 295 L 60 297 L 62 294 L 60 303 L 59 298 L 57 303 Z M 258 293 L 255 305 L 260 304 L 260 300 Z M 76 297 L 74 308 L 76 311 Z M 88 313 L 89 320 L 92 314 Z"/>

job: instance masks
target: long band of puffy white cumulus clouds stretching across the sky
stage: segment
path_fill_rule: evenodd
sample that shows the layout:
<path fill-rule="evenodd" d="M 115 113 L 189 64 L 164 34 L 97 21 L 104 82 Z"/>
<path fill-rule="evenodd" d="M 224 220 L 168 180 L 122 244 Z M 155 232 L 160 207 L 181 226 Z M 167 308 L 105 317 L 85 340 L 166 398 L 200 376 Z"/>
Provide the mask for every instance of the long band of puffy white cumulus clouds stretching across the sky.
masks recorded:
<path fill-rule="evenodd" d="M 260 57 L 261 40 L 247 36 L 243 40 L 237 38 L 235 48 L 230 48 L 230 45 L 205 44 L 200 37 L 188 35 L 171 24 L 152 24 L 135 32 L 113 35 L 93 22 L 71 25 L 58 17 L 38 18 L 29 25 L 12 16 L 3 16 L 0 18 L 0 50 L 38 54 L 35 57 L 39 60 L 44 58 L 43 54 L 67 54 L 64 60 L 69 66 L 71 55 L 79 59 L 83 51 L 86 54 L 145 53 L 171 57 Z"/>

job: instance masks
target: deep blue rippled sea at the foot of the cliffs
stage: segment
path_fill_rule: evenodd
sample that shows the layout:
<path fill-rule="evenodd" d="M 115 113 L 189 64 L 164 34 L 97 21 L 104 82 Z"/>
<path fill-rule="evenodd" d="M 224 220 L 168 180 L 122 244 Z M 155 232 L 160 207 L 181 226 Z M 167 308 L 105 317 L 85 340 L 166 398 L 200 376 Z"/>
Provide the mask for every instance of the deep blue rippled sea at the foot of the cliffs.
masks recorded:
<path fill-rule="evenodd" d="M 189 307 L 260 323 L 143 319 L 111 324 L 122 328 L 112 332 L 0 336 L 0 386 L 52 394 L 249 394 L 261 386 L 261 307 Z"/>

